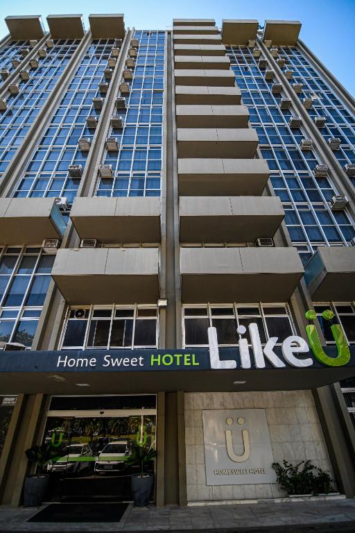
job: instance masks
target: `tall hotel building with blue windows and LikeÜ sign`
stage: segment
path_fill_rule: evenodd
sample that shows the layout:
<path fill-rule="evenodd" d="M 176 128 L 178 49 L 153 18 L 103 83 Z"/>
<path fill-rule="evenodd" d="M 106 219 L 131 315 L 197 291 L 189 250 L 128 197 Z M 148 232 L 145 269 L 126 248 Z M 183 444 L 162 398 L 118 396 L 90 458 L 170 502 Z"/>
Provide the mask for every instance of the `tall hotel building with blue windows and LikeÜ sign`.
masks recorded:
<path fill-rule="evenodd" d="M 47 501 L 129 500 L 142 436 L 159 506 L 354 496 L 354 99 L 300 22 L 46 21 L 0 43 L 0 502 L 49 441 Z"/>

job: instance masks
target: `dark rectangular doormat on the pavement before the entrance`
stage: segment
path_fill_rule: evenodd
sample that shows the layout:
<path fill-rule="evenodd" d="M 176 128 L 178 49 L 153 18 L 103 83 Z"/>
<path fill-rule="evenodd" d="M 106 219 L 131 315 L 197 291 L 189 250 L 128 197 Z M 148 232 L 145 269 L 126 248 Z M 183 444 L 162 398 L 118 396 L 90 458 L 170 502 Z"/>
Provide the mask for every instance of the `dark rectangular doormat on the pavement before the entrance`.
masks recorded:
<path fill-rule="evenodd" d="M 128 503 L 51 503 L 28 522 L 119 522 Z"/>

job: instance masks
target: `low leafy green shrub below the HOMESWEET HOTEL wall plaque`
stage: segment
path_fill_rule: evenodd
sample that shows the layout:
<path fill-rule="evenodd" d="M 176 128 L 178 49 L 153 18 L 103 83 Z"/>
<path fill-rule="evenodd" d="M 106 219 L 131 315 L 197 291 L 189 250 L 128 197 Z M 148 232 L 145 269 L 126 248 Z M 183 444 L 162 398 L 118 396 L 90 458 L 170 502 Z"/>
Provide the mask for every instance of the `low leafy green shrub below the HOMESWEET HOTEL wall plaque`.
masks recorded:
<path fill-rule="evenodd" d="M 291 464 L 272 463 L 277 476 L 277 483 L 288 494 L 328 494 L 333 491 L 329 472 L 311 464 L 311 461 L 301 461 Z"/>

